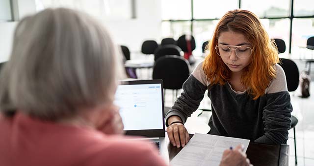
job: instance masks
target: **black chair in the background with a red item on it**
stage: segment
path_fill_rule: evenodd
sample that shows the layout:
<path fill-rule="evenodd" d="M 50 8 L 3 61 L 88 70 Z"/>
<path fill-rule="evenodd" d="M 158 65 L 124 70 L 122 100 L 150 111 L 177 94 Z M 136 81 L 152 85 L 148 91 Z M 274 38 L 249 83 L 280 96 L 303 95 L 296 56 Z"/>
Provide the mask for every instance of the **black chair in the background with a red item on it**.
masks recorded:
<path fill-rule="evenodd" d="M 189 51 L 192 52 L 193 50 L 195 50 L 195 47 L 196 47 L 195 39 L 192 35 L 190 35 L 190 38 L 191 38 L 189 41 L 190 44 L 187 44 L 188 41 L 186 41 L 186 35 L 180 36 L 179 39 L 177 40 L 177 45 L 182 49 L 184 54 L 187 54 Z M 193 56 L 190 56 L 190 57 L 193 57 Z M 184 56 L 184 58 L 186 57 Z M 195 60 L 193 58 L 190 58 L 188 59 L 188 62 L 190 64 L 194 64 Z"/>

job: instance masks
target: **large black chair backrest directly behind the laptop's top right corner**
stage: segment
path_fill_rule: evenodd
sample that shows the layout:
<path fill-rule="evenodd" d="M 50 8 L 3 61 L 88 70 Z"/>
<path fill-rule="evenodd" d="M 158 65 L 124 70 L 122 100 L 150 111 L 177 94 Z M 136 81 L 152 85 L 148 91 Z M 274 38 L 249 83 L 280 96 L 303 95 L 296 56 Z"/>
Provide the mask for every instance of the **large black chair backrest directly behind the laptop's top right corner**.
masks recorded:
<path fill-rule="evenodd" d="M 159 58 L 153 69 L 153 79 L 162 79 L 165 89 L 182 89 L 190 75 L 190 65 L 183 57 L 167 55 Z"/>

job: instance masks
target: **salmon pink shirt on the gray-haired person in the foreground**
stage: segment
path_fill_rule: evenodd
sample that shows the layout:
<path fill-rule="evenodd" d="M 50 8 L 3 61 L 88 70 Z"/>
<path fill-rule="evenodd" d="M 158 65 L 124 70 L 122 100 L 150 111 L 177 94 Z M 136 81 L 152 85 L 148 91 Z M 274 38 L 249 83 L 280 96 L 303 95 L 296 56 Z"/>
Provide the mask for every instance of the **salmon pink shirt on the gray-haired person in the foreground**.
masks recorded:
<path fill-rule="evenodd" d="M 165 166 L 155 146 L 17 113 L 0 115 L 0 166 Z"/>

